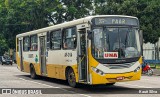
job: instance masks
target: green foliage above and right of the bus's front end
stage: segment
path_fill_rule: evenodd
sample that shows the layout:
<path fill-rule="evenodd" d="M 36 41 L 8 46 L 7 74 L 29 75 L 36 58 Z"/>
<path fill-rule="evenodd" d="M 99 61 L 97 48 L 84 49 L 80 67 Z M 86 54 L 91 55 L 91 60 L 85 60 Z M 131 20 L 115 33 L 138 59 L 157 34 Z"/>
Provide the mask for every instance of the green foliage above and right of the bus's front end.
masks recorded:
<path fill-rule="evenodd" d="M 140 20 L 144 42 L 156 43 L 160 37 L 159 0 L 95 0 L 95 14 L 130 15 Z"/>

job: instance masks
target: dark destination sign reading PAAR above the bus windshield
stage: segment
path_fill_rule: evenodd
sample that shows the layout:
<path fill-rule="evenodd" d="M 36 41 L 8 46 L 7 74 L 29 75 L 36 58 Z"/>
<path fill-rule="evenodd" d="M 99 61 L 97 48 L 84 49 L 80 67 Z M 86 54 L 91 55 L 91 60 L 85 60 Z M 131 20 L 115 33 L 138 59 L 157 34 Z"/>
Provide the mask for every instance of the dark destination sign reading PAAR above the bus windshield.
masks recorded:
<path fill-rule="evenodd" d="M 94 18 L 92 22 L 95 25 L 132 25 L 138 26 L 138 20 L 135 18 L 125 17 L 100 17 Z"/>

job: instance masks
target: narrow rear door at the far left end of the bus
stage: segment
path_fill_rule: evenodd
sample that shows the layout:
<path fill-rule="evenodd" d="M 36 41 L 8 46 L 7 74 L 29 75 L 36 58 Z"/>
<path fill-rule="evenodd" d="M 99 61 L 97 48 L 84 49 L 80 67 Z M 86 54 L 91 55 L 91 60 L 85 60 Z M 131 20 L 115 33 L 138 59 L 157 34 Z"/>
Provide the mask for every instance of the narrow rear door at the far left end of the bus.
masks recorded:
<path fill-rule="evenodd" d="M 24 67 L 23 67 L 23 49 L 22 49 L 22 40 L 19 39 L 19 55 L 20 55 L 20 68 L 21 68 L 21 71 L 24 70 Z"/>

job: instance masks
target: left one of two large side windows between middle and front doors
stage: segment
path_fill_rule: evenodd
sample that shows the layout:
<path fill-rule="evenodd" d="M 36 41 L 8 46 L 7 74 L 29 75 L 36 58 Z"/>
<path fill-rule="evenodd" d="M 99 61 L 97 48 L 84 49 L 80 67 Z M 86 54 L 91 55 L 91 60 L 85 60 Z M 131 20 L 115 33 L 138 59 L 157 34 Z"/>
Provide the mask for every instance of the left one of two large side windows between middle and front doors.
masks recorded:
<path fill-rule="evenodd" d="M 50 33 L 51 36 L 51 49 L 61 49 L 61 30 L 53 31 Z"/>

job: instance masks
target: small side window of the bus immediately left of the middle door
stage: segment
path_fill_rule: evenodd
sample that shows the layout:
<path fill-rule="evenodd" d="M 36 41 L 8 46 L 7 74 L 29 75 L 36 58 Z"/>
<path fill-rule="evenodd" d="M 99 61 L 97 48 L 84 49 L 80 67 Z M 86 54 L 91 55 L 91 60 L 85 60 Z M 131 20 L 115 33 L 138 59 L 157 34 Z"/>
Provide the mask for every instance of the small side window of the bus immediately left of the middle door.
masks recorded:
<path fill-rule="evenodd" d="M 37 35 L 31 36 L 31 51 L 37 51 L 38 50 L 38 38 Z"/>

